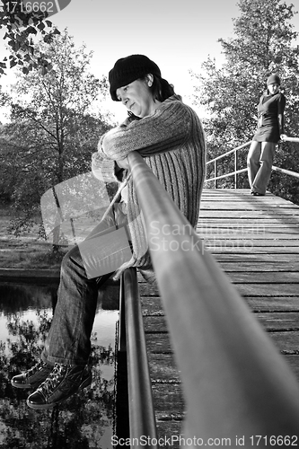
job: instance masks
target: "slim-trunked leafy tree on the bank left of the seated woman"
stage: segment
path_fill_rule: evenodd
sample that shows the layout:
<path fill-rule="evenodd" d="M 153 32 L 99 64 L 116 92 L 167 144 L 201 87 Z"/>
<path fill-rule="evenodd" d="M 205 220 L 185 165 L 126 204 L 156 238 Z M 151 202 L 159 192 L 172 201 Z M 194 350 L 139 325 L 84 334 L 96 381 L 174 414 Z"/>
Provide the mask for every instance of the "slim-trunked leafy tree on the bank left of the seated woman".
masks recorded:
<path fill-rule="evenodd" d="M 14 230 L 31 225 L 40 210 L 40 197 L 57 183 L 90 171 L 91 154 L 110 125 L 92 110 L 99 93 L 108 92 L 89 72 L 92 53 L 75 48 L 64 31 L 56 40 L 36 45 L 52 69 L 40 67 L 18 74 L 11 101 L 12 122 L 1 132 L 5 178 L 13 173 L 13 201 L 25 211 Z"/>

